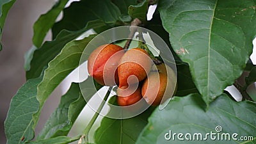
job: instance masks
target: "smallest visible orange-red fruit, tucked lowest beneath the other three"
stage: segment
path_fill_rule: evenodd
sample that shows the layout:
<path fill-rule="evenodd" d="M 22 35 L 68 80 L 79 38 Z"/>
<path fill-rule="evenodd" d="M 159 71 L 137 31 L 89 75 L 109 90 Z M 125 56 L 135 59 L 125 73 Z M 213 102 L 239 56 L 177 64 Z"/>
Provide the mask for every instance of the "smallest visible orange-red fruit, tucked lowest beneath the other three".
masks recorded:
<path fill-rule="evenodd" d="M 134 86 L 131 86 L 131 87 L 132 88 L 128 88 L 128 86 L 122 86 L 122 88 L 117 89 L 117 95 L 118 95 L 117 102 L 119 106 L 130 106 L 142 99 L 141 87 L 138 86 L 135 92 L 134 92 Z"/>

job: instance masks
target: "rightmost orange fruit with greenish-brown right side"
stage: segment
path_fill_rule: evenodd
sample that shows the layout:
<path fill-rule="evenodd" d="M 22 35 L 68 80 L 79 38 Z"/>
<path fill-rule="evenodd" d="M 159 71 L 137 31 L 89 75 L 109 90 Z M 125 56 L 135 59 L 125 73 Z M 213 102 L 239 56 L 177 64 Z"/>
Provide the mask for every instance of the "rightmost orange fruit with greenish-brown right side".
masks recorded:
<path fill-rule="evenodd" d="M 158 106 L 161 100 L 172 97 L 175 91 L 175 73 L 172 68 L 161 63 L 157 65 L 157 71 L 150 72 L 149 76 L 143 82 L 141 94 L 148 104 Z M 167 75 L 167 70 L 168 75 Z"/>

